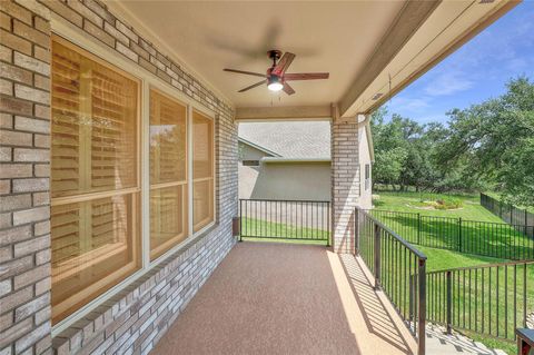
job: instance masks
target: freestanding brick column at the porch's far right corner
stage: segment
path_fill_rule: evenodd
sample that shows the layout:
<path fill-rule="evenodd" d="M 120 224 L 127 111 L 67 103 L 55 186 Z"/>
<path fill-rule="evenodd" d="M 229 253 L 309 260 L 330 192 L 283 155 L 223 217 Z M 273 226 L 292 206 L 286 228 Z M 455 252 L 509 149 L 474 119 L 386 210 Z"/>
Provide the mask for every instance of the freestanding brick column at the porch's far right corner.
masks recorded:
<path fill-rule="evenodd" d="M 354 253 L 354 209 L 359 199 L 358 124 L 356 118 L 332 124 L 332 245 Z"/>

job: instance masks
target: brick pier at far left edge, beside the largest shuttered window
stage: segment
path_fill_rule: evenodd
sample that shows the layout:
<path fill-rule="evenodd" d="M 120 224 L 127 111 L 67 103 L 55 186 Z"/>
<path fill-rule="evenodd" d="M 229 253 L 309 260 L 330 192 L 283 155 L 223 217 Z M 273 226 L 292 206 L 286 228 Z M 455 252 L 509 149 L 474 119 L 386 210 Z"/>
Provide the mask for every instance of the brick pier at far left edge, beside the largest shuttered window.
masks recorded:
<path fill-rule="evenodd" d="M 51 353 L 49 20 L 0 1 L 0 354 Z"/>

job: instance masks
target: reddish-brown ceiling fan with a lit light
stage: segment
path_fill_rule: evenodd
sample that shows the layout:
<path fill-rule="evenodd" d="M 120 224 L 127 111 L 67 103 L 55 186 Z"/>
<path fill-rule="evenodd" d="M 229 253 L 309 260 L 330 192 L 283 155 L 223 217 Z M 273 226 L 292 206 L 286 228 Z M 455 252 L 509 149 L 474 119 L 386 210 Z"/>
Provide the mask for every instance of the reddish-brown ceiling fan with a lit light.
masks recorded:
<path fill-rule="evenodd" d="M 294 95 L 295 90 L 289 86 L 287 81 L 328 79 L 329 77 L 328 72 L 286 72 L 287 68 L 289 68 L 293 60 L 295 59 L 294 53 L 285 52 L 284 56 L 281 56 L 281 51 L 279 50 L 269 50 L 267 55 L 273 60 L 273 66 L 267 69 L 266 73 L 227 68 L 222 69 L 225 71 L 264 78 L 264 80 L 253 83 L 251 86 L 246 87 L 238 92 L 244 92 L 266 83 L 267 88 L 271 91 L 284 90 L 284 92 L 286 92 L 287 95 Z"/>

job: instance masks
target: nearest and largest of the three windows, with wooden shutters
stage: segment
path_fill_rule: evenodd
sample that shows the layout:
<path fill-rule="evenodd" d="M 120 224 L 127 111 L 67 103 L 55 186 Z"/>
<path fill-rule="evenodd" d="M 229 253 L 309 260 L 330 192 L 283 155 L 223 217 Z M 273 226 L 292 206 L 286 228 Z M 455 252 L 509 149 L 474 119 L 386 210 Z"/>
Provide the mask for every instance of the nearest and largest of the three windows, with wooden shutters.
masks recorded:
<path fill-rule="evenodd" d="M 139 81 L 52 41 L 52 322 L 140 268 Z"/>

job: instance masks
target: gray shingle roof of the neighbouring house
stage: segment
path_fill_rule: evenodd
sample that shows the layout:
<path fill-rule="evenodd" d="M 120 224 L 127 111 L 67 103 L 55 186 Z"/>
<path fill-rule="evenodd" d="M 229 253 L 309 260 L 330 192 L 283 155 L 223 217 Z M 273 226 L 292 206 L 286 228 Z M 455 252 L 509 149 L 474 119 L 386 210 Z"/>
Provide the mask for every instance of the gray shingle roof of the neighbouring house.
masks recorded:
<path fill-rule="evenodd" d="M 330 122 L 239 124 L 239 137 L 284 158 L 330 158 Z"/>

